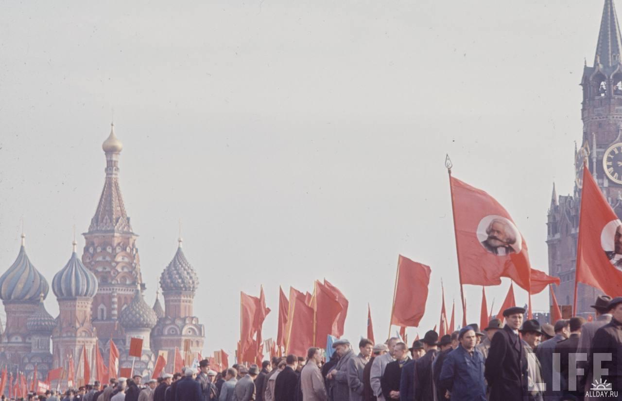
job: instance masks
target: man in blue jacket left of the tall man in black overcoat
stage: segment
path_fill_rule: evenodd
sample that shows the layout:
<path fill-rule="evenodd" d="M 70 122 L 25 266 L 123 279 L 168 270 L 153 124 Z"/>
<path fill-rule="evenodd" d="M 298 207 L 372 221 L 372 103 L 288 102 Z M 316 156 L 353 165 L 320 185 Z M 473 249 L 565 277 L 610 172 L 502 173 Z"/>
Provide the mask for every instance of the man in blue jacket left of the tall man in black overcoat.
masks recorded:
<path fill-rule="evenodd" d="M 458 335 L 458 348 L 447 354 L 440 371 L 440 388 L 452 401 L 486 401 L 484 357 L 475 349 L 475 330 L 465 326 Z M 443 399 L 445 394 L 439 394 Z"/>

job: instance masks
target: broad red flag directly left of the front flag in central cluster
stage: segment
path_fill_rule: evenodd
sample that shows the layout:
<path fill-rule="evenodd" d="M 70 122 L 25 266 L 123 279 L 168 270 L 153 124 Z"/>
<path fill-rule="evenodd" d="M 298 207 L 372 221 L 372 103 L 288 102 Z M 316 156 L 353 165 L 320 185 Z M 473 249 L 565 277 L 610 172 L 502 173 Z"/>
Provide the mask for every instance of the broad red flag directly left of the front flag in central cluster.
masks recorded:
<path fill-rule="evenodd" d="M 305 304 L 304 298 L 294 297 L 289 300 L 289 309 L 291 322 L 285 353 L 302 356 L 313 344 L 313 308 Z"/>

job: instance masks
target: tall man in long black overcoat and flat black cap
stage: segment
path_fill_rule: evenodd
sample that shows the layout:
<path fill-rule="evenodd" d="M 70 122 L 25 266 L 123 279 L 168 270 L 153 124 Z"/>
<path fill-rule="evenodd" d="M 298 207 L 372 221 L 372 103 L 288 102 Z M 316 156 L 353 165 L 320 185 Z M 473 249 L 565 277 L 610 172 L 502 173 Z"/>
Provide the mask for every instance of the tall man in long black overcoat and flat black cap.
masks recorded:
<path fill-rule="evenodd" d="M 523 363 L 525 352 L 518 329 L 522 325 L 525 309 L 511 307 L 503 311 L 506 324 L 497 331 L 490 343 L 486 358 L 485 376 L 490 386 L 491 400 L 522 401 L 523 377 L 527 366 Z"/>

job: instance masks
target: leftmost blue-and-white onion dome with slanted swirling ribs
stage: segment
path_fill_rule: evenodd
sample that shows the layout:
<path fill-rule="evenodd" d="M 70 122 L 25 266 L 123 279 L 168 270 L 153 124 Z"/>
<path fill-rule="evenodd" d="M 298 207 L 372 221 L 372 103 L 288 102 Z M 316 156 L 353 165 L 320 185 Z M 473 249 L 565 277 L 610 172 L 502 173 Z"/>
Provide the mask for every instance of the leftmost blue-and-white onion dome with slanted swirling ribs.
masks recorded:
<path fill-rule="evenodd" d="M 35 302 L 39 295 L 47 296 L 50 287 L 43 274 L 30 263 L 24 246 L 26 235 L 22 234 L 22 246 L 17 259 L 0 276 L 0 299 L 13 302 Z"/>

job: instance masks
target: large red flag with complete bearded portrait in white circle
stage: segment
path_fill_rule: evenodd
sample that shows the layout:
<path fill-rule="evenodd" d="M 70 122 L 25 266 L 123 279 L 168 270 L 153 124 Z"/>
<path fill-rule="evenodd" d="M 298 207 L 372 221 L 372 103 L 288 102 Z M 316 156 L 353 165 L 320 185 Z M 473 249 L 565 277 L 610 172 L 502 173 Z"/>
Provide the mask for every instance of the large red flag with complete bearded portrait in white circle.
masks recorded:
<path fill-rule="evenodd" d="M 486 192 L 450 176 L 460 284 L 498 286 L 509 277 L 529 291 L 527 243 Z"/>

